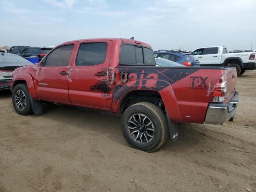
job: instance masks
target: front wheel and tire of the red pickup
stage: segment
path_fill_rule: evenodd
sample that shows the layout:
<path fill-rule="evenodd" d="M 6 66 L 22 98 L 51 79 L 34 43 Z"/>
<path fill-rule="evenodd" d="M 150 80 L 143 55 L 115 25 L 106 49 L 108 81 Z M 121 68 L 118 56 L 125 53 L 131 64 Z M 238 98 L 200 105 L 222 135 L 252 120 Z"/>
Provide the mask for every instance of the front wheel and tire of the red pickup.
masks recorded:
<path fill-rule="evenodd" d="M 30 94 L 26 84 L 18 84 L 14 87 L 12 92 L 12 105 L 20 115 L 33 114 Z"/>

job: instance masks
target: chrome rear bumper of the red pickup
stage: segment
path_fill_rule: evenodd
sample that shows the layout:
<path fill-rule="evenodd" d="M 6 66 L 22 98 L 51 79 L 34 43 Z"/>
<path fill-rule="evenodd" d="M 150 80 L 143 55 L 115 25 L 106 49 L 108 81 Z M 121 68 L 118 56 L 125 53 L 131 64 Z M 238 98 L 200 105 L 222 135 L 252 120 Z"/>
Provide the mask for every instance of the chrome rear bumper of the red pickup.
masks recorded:
<path fill-rule="evenodd" d="M 204 122 L 206 124 L 223 124 L 228 120 L 233 120 L 238 105 L 238 92 L 235 92 L 228 104 L 210 103 L 206 112 Z"/>

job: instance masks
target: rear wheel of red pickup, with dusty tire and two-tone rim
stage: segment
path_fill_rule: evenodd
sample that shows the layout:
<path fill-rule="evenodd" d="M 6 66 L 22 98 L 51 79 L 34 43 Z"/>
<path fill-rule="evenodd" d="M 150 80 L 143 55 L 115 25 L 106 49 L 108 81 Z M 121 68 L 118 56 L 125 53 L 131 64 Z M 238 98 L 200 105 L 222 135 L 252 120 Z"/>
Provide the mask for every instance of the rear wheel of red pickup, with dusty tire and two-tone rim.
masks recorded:
<path fill-rule="evenodd" d="M 136 103 L 127 108 L 122 116 L 121 128 L 128 144 L 146 152 L 160 148 L 169 135 L 164 112 L 148 102 Z"/>

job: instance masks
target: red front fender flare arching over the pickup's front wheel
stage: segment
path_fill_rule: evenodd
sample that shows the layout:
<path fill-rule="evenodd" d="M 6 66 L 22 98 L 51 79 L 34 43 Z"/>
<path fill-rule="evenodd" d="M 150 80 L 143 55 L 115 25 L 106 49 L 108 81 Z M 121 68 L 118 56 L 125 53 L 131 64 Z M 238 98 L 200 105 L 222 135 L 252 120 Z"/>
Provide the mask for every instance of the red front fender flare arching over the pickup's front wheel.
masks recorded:
<path fill-rule="evenodd" d="M 34 100 L 38 100 L 38 98 L 36 97 L 35 89 L 34 89 L 34 82 L 33 82 L 32 77 L 30 76 L 30 74 L 24 74 L 24 73 L 15 74 L 15 76 L 12 77 L 12 84 L 11 84 L 11 86 L 13 87 L 15 82 L 19 81 L 19 80 L 26 81 L 26 84 L 28 86 L 28 91 L 30 93 L 30 96 Z"/>

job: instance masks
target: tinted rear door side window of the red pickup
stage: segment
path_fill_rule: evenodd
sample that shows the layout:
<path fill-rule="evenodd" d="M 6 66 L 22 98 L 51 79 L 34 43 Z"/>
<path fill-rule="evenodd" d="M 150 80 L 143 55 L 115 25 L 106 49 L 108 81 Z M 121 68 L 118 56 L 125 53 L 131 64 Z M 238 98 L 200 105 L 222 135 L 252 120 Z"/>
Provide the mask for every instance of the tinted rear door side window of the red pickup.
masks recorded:
<path fill-rule="evenodd" d="M 76 58 L 77 66 L 93 66 L 102 64 L 106 58 L 107 43 L 81 44 Z"/>

